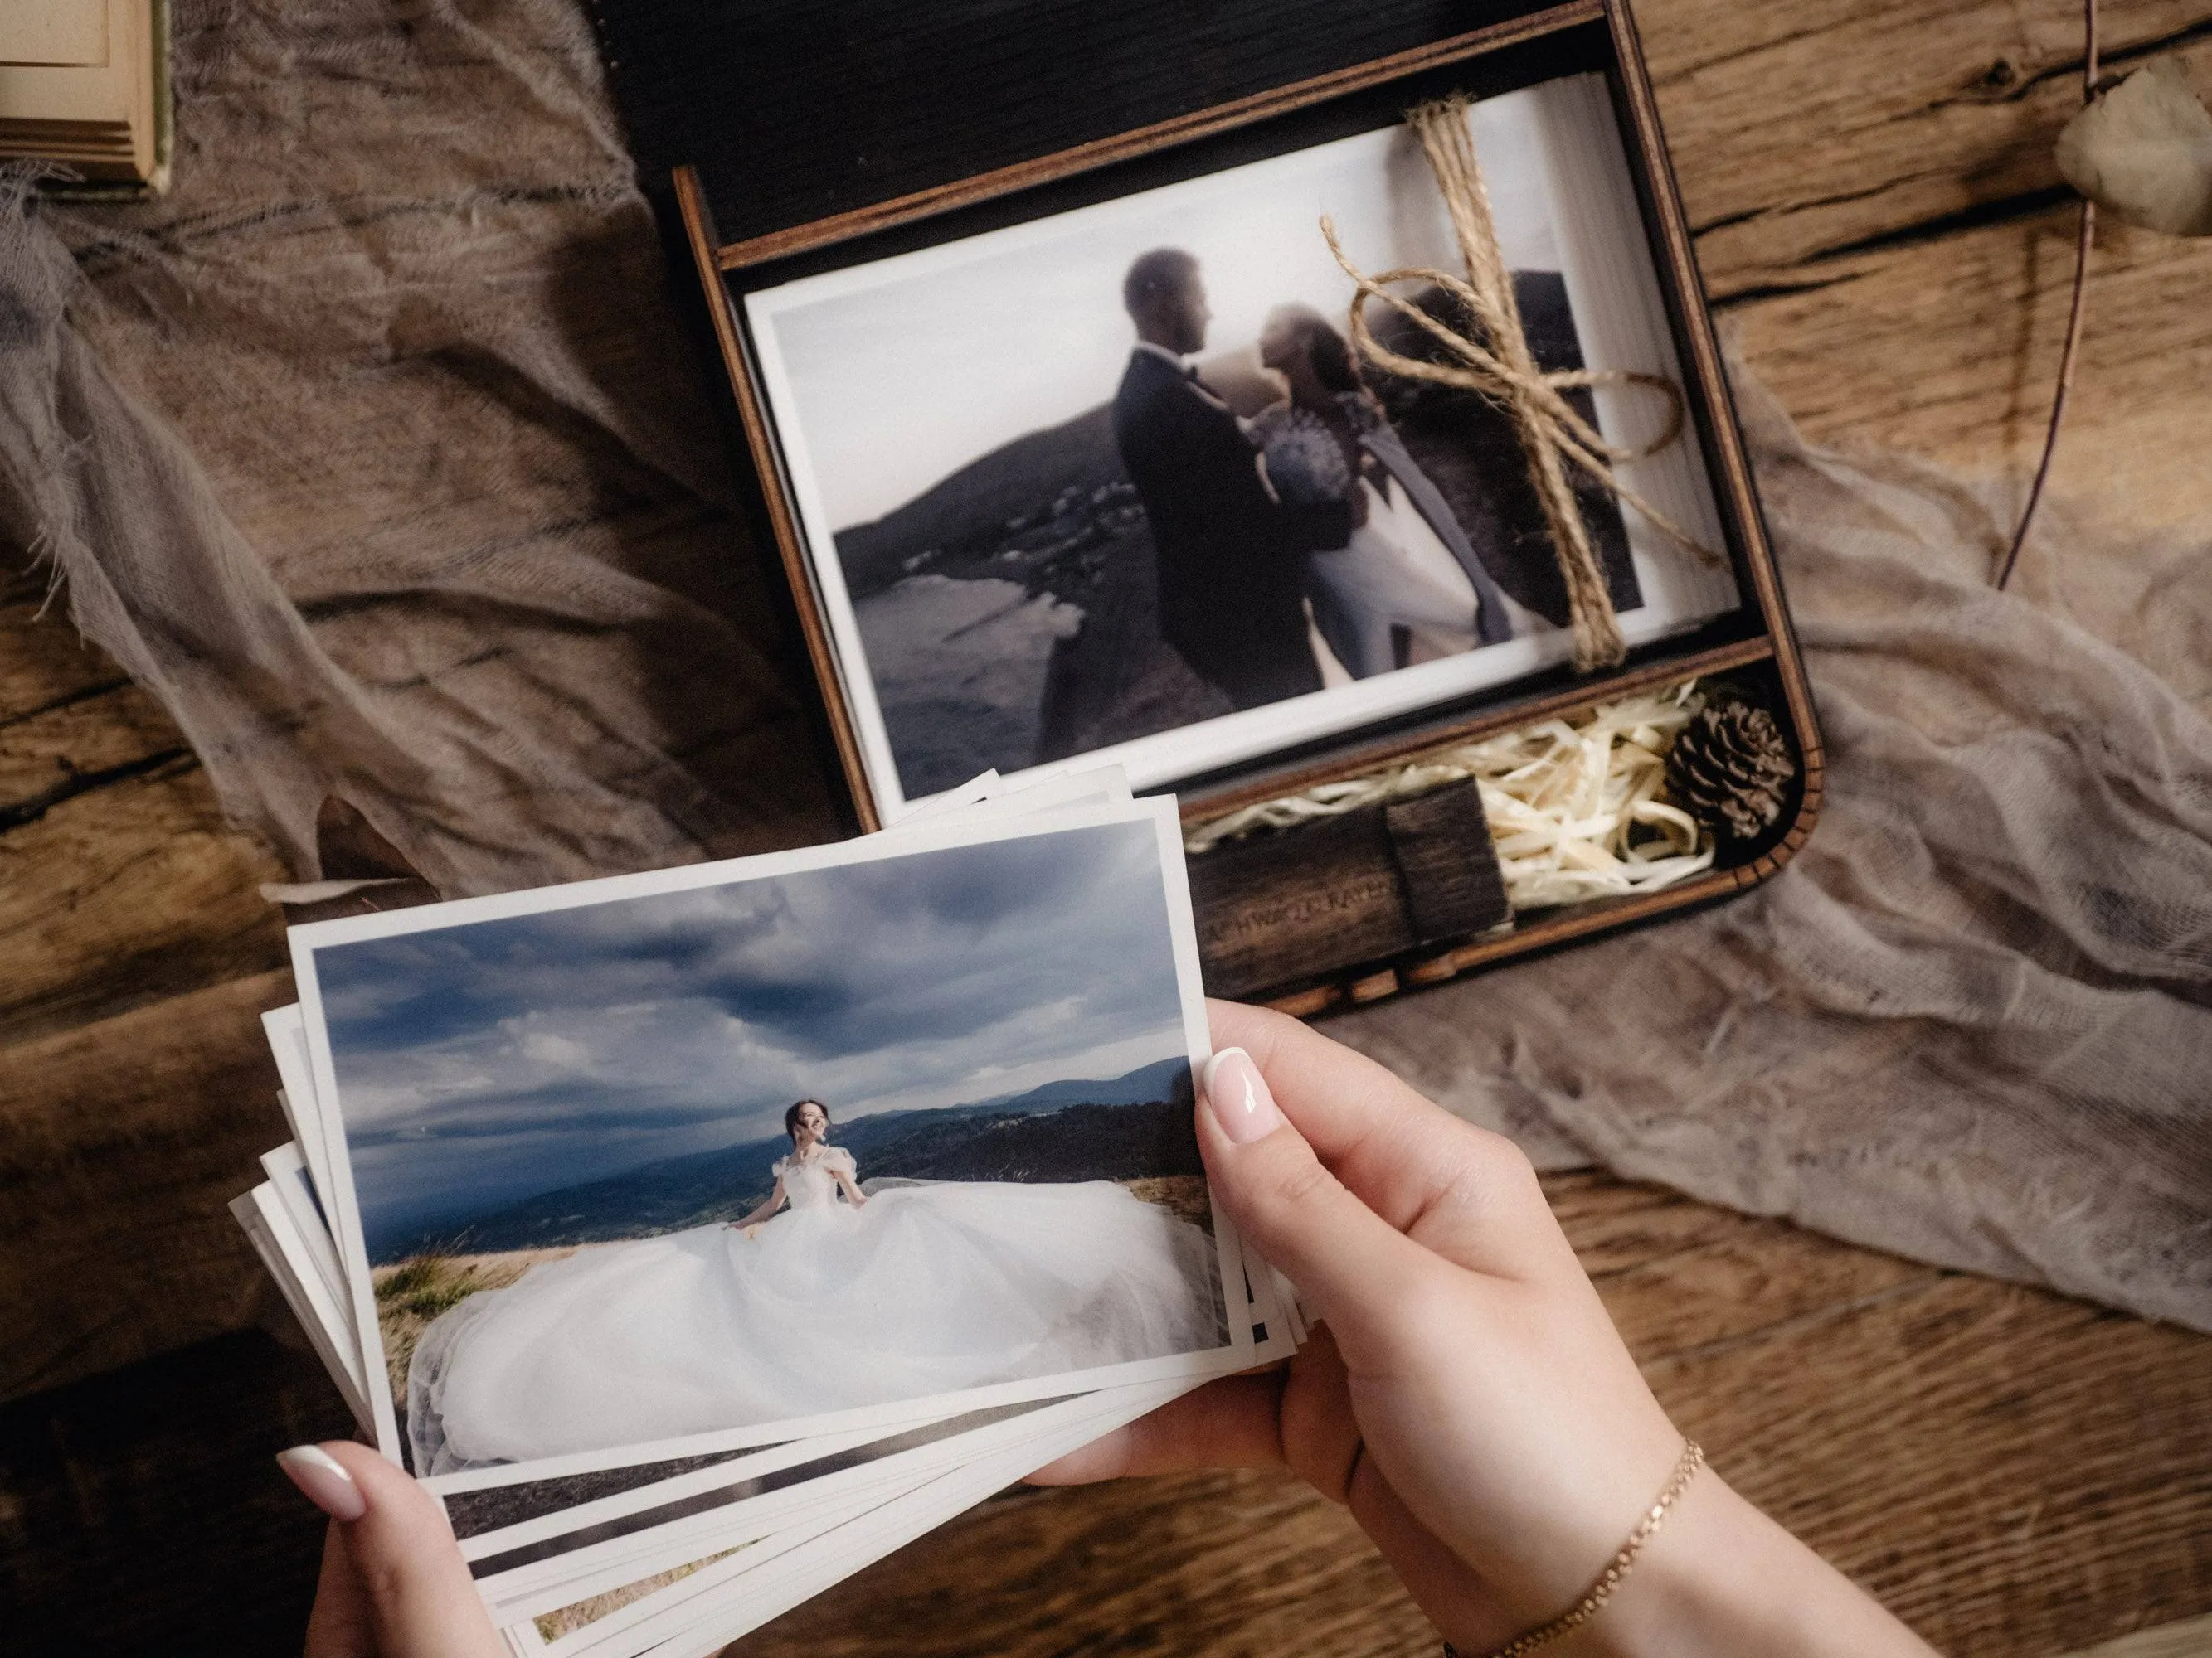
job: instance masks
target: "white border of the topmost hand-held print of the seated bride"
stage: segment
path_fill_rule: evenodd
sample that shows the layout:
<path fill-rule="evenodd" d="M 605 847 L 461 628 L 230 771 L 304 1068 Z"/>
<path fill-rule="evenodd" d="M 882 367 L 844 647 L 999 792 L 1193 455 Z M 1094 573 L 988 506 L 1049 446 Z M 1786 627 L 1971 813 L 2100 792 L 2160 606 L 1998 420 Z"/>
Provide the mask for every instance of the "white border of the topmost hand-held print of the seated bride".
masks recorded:
<path fill-rule="evenodd" d="M 562 909 L 582 909 L 591 904 L 622 902 L 630 898 L 653 898 L 661 893 L 697 891 L 706 886 L 730 886 L 754 880 L 774 880 L 779 875 L 796 875 L 816 869 L 841 869 L 849 864 L 887 862 L 925 851 L 1029 840 L 1037 836 L 1093 829 L 1115 822 L 1148 822 L 1152 827 L 1155 844 L 1159 849 L 1159 878 L 1164 884 L 1164 898 L 1168 909 L 1168 937 L 1175 957 L 1177 995 L 1181 1001 L 1183 1046 L 1186 1046 L 1186 1057 L 1190 1059 L 1192 1066 L 1192 1074 L 1197 1074 L 1203 1068 L 1212 1048 L 1206 1028 L 1206 999 L 1199 977 L 1199 944 L 1197 944 L 1197 931 L 1190 920 L 1190 891 L 1183 875 L 1181 825 L 1177 820 L 1172 798 L 1133 800 L 1128 805 L 1088 807 L 1066 814 L 1048 811 L 1020 818 L 1013 822 L 916 825 L 911 829 L 902 829 L 896 836 L 863 836 L 858 840 L 845 840 L 827 847 L 805 847 L 799 851 L 761 853 L 754 858 L 739 858 L 717 864 L 690 864 L 681 869 L 661 869 L 641 875 L 611 875 L 604 880 L 575 882 L 568 886 L 538 889 L 524 893 L 500 893 L 491 898 L 467 898 L 447 904 L 429 904 L 422 909 L 385 911 L 378 915 L 314 922 L 310 926 L 292 928 L 290 933 L 292 970 L 299 982 L 299 1006 L 307 1037 L 310 1070 L 314 1079 L 314 1110 L 323 1119 L 323 1132 L 332 1147 L 332 1158 L 330 1158 L 332 1180 L 330 1189 L 325 1192 L 325 1207 L 332 1211 L 330 1218 L 336 1231 L 338 1251 L 341 1258 L 345 1260 L 347 1280 L 352 1289 L 354 1324 L 361 1331 L 363 1368 L 372 1384 L 369 1402 L 376 1413 L 378 1452 L 383 1452 L 389 1461 L 405 1466 L 405 1457 L 400 1450 L 398 1413 L 394 1410 L 385 1353 L 383 1353 L 383 1331 L 376 1320 L 376 1295 L 372 1284 L 367 1242 L 363 1234 L 361 1205 L 354 1189 L 354 1174 L 349 1158 L 338 1154 L 338 1147 L 345 1145 L 343 1101 L 338 1092 L 336 1068 L 332 1061 L 330 1037 L 323 1019 L 323 995 L 321 995 L 321 982 L 316 977 L 316 951 L 341 944 L 354 944 L 363 940 L 400 937 L 407 933 L 429 933 L 449 926 L 469 926 L 476 922 L 509 920 L 518 915 L 540 915 Z M 292 1108 L 294 1112 L 301 1112 L 305 1110 L 305 1103 L 292 1099 Z M 717 1450 L 739 1450 L 794 1437 L 843 1433 L 849 1428 L 867 1428 L 876 1424 L 914 1421 L 916 1415 L 931 1415 L 931 1413 L 958 1415 L 962 1410 L 975 1410 L 993 1404 L 1015 1404 L 1026 1399 L 1060 1397 L 1068 1393 L 1097 1391 L 1108 1386 L 1139 1384 L 1139 1382 L 1203 1379 L 1248 1368 L 1254 1362 L 1252 1324 L 1250 1320 L 1234 1315 L 1237 1304 L 1241 1302 L 1241 1295 L 1237 1295 L 1234 1289 L 1243 1284 L 1243 1251 L 1237 1240 L 1237 1231 L 1230 1225 L 1228 1216 L 1221 1211 L 1221 1207 L 1212 1205 L 1212 1211 L 1214 1211 L 1214 1258 L 1219 1273 L 1217 1289 L 1221 1295 L 1221 1311 L 1228 1322 L 1228 1340 L 1221 1346 L 1194 1353 L 1152 1357 L 1152 1360 L 1130 1360 L 1124 1364 L 1099 1366 L 1093 1371 L 1026 1377 L 1020 1382 L 1000 1382 L 982 1388 L 964 1388 L 958 1393 L 931 1395 L 925 1399 L 900 1399 L 880 1406 L 832 1410 L 814 1417 L 752 1424 L 745 1428 L 730 1428 L 708 1435 L 686 1435 L 681 1439 L 661 1439 L 650 1444 L 619 1446 L 611 1450 L 507 1463 L 504 1468 L 498 1470 L 473 1470 L 471 1483 L 482 1486 L 482 1483 L 520 1483 L 531 1479 L 553 1479 L 560 1475 L 595 1472 L 602 1468 L 622 1468 L 639 1461 L 661 1461 L 661 1459 L 706 1455 Z"/>

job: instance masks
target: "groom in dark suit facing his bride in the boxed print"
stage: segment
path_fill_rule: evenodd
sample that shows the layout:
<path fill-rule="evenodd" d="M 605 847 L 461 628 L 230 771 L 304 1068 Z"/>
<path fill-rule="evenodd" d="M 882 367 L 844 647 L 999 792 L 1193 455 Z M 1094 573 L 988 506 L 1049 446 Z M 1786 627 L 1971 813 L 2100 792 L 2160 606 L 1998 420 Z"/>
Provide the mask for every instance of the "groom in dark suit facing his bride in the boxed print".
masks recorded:
<path fill-rule="evenodd" d="M 1345 502 L 1285 506 L 1237 416 L 1183 358 L 1206 345 L 1199 261 L 1141 254 L 1121 279 L 1137 325 L 1113 400 L 1121 447 L 1159 557 L 1159 630 L 1237 707 L 1321 690 L 1305 630 L 1305 555 L 1352 539 Z"/>

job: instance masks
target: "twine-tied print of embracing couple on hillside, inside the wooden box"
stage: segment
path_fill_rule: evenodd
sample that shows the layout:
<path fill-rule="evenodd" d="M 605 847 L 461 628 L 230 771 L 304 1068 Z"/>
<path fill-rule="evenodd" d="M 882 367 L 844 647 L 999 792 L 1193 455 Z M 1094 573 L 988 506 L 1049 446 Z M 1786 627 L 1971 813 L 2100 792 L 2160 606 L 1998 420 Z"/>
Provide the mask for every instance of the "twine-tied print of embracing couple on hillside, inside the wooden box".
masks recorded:
<path fill-rule="evenodd" d="M 1537 365 L 1674 378 L 1613 119 L 1595 75 L 1469 113 Z M 1389 126 L 748 296 L 878 800 L 1077 754 L 1157 787 L 1568 654 L 1511 416 L 1363 360 L 1323 219 L 1365 270 L 1458 267 Z M 1663 427 L 1635 389 L 1566 398 L 1608 442 Z M 1721 546 L 1692 433 L 1619 473 Z M 1736 608 L 1632 502 L 1575 500 L 1630 643 Z"/>

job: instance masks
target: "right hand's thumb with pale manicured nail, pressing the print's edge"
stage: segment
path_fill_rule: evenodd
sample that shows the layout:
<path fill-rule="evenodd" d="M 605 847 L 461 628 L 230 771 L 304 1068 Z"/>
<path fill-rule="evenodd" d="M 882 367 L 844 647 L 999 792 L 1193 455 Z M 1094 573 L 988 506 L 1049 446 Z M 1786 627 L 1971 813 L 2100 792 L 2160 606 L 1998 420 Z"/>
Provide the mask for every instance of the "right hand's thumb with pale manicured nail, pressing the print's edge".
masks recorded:
<path fill-rule="evenodd" d="M 1440 1262 L 1323 1167 L 1243 1048 L 1206 1063 L 1199 1094 L 1199 1152 L 1221 1207 L 1338 1342 L 1360 1346 L 1360 1331 L 1400 1304 L 1407 1280 Z"/>

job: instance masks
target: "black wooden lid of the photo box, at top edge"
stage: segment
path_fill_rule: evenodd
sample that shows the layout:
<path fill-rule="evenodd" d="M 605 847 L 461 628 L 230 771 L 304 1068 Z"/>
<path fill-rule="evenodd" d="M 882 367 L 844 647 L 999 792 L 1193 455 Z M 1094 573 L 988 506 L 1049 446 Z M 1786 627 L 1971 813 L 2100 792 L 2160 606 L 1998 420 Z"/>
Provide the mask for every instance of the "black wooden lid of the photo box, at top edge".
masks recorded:
<path fill-rule="evenodd" d="M 593 0 L 648 188 L 743 243 L 1557 0 Z"/>

